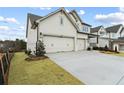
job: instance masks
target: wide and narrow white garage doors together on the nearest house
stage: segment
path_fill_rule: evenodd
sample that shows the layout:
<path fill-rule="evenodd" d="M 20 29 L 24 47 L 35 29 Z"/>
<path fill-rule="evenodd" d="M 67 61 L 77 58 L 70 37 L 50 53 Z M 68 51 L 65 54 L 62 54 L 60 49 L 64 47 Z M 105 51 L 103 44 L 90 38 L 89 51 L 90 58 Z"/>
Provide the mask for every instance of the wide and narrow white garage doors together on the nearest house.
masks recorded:
<path fill-rule="evenodd" d="M 64 51 L 79 51 L 85 50 L 87 40 L 84 38 L 66 37 L 66 36 L 52 36 L 44 35 L 43 43 L 47 53 L 64 52 Z"/>

